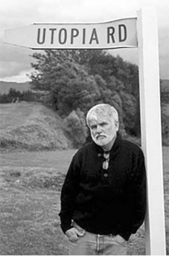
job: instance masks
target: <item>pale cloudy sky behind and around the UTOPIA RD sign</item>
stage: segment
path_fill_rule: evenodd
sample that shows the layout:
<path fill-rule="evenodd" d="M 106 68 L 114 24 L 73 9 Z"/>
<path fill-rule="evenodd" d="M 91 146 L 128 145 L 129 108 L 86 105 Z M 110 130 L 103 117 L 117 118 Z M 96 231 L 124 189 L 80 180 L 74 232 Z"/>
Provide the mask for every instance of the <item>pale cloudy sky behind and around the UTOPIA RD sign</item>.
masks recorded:
<path fill-rule="evenodd" d="M 0 0 L 0 80 L 24 82 L 33 69 L 34 50 L 4 44 L 6 29 L 33 23 L 94 23 L 136 17 L 143 7 L 157 13 L 159 75 L 169 79 L 169 1 L 168 0 Z M 138 64 L 137 49 L 109 50 L 114 56 Z"/>

